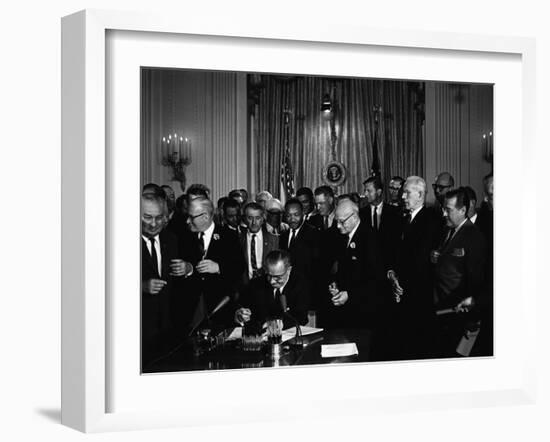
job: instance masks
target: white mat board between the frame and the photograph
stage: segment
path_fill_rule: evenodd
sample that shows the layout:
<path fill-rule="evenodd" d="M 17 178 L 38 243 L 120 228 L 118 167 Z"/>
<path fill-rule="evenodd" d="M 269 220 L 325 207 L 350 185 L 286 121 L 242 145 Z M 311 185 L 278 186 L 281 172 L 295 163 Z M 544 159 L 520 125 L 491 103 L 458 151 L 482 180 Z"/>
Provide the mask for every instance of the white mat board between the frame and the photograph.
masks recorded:
<path fill-rule="evenodd" d="M 521 278 L 506 279 L 498 275 L 517 274 L 514 256 L 520 256 L 520 238 L 506 235 L 507 219 L 499 212 L 500 196 L 521 199 L 519 188 L 497 180 L 495 196 L 496 230 L 495 271 L 497 358 L 484 360 L 442 361 L 409 364 L 369 364 L 345 367 L 315 367 L 231 372 L 183 373 L 160 376 L 139 375 L 139 156 L 129 156 L 126 143 L 139 143 L 139 69 L 141 65 L 276 72 L 304 74 L 354 75 L 385 78 L 453 80 L 495 83 L 495 132 L 501 134 L 499 174 L 508 174 L 521 164 L 510 155 L 521 142 L 518 113 L 521 109 L 521 63 L 519 57 L 468 52 L 376 50 L 365 46 L 346 47 L 296 42 L 268 42 L 247 39 L 222 39 L 196 36 L 166 36 L 146 33 L 115 32 L 108 44 L 110 78 L 112 79 L 112 126 L 110 158 L 115 196 L 110 213 L 113 279 L 109 281 L 113 323 L 113 351 L 110 372 L 113 389 L 110 409 L 116 412 L 179 410 L 189 417 L 211 410 L 204 386 L 217 395 L 217 402 L 235 400 L 262 403 L 273 399 L 273 406 L 283 405 L 278 394 L 281 385 L 293 391 L 307 391 L 308 399 L 321 401 L 334 398 L 376 398 L 500 391 L 521 388 L 523 356 L 527 348 L 522 335 L 507 324 L 517 319 L 518 305 L 525 299 L 512 299 L 521 292 Z M 182 54 L 180 58 L 174 54 Z M 184 56 L 183 56 L 184 54 Z M 327 58 L 334 62 L 325 63 Z M 430 66 L 429 72 L 426 66 Z M 129 161 L 130 160 L 130 161 Z M 135 198 L 133 197 L 135 195 Z M 122 197 L 124 196 L 124 197 Z M 505 246 L 504 246 L 505 245 Z M 500 253 L 506 247 L 510 253 Z M 515 273 L 514 273 L 515 272 Z M 499 296 L 499 294 L 502 294 Z M 519 303 L 519 304 L 518 304 Z M 521 309 L 520 309 L 521 311 Z M 450 380 L 452 379 L 452 382 Z M 411 382 L 413 380 L 413 382 Z M 320 383 L 323 388 L 318 388 Z M 246 403 L 239 402 L 241 388 L 249 392 Z M 186 400 L 181 400 L 185 397 Z M 236 398 L 236 399 L 235 399 Z M 265 410 L 264 410 L 265 411 Z M 291 413 L 292 410 L 287 410 Z M 251 411 L 251 413 L 254 413 Z M 251 414 L 253 419 L 253 414 Z"/>

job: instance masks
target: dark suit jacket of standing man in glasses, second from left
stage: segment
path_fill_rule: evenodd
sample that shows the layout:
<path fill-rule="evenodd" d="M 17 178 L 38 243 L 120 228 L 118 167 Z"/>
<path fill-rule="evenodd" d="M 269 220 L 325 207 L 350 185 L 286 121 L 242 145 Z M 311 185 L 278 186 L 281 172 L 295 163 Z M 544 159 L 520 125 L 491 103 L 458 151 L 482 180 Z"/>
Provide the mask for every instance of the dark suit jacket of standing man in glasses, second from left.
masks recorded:
<path fill-rule="evenodd" d="M 173 313 L 179 323 L 179 329 L 185 330 L 193 318 L 200 295 L 204 295 L 207 312 L 223 299 L 224 296 L 234 297 L 237 291 L 239 277 L 244 268 L 242 252 L 238 237 L 215 226 L 205 259 L 210 259 L 219 265 L 220 273 L 199 274 L 196 265 L 201 260 L 198 233 L 186 231 L 179 241 L 181 258 L 193 265 L 193 274 L 180 279 L 175 297 Z M 216 322 L 225 323 L 229 320 L 229 308 L 224 308 L 216 315 Z"/>

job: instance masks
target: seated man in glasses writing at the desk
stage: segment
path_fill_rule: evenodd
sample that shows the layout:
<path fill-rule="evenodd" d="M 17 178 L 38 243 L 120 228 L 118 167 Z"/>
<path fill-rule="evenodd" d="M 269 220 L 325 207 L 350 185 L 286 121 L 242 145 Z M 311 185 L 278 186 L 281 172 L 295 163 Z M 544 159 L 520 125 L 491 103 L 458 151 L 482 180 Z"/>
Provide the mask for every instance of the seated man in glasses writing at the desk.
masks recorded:
<path fill-rule="evenodd" d="M 293 269 L 286 250 L 269 252 L 265 262 L 265 276 L 251 281 L 237 309 L 235 322 L 252 322 L 261 326 L 266 320 L 280 318 L 284 327 L 295 322 L 308 321 L 309 286 L 305 278 Z"/>

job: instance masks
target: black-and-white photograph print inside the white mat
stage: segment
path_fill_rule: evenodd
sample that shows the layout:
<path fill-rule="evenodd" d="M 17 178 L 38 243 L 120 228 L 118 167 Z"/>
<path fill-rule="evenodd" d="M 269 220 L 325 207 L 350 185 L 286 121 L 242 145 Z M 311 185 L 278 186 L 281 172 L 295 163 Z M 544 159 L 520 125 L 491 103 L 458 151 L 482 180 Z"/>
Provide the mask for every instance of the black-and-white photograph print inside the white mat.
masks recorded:
<path fill-rule="evenodd" d="M 493 356 L 493 85 L 141 68 L 141 372 Z"/>

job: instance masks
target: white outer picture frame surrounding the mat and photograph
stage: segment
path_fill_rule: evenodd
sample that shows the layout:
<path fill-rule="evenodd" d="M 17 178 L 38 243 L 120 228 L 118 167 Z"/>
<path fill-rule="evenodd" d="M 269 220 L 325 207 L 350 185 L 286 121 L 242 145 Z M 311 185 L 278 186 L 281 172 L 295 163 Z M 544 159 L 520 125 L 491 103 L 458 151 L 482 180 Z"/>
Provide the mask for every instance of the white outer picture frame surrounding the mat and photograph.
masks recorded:
<path fill-rule="evenodd" d="M 316 44 L 328 45 L 337 50 L 369 46 L 383 52 L 384 50 L 415 51 L 426 50 L 431 55 L 449 53 L 470 53 L 483 59 L 489 54 L 502 54 L 504 57 L 516 57 L 521 65 L 520 103 L 518 111 L 521 121 L 518 131 L 512 137 L 521 145 L 523 172 L 533 168 L 534 121 L 533 109 L 536 96 L 535 89 L 535 46 L 534 41 L 525 38 L 492 38 L 479 35 L 457 35 L 447 33 L 427 33 L 414 31 L 382 31 L 369 28 L 331 26 L 330 33 L 324 28 L 276 23 L 258 26 L 252 22 L 227 21 L 213 23 L 208 18 L 194 18 L 182 24 L 177 17 L 156 16 L 143 13 L 122 13 L 100 10 L 82 11 L 65 17 L 62 22 L 62 423 L 84 432 L 116 431 L 138 428 L 158 428 L 167 426 L 207 425 L 211 420 L 217 422 L 259 421 L 293 418 L 295 415 L 288 409 L 281 409 L 281 402 L 275 401 L 274 408 L 263 407 L 261 410 L 248 410 L 241 416 L 231 419 L 214 411 L 207 415 L 204 404 L 199 403 L 192 409 L 181 410 L 141 409 L 139 411 L 109 411 L 109 393 L 115 386 L 109 377 L 111 359 L 108 327 L 113 312 L 110 310 L 107 287 L 109 286 L 109 266 L 114 258 L 109 253 L 108 244 L 113 241 L 111 230 L 112 201 L 108 193 L 112 170 L 109 155 L 106 151 L 108 134 L 106 119 L 106 94 L 109 93 L 109 79 L 106 78 L 106 35 L 108 32 L 153 32 L 164 35 L 198 35 L 237 38 L 255 45 L 268 41 L 272 45 L 278 42 L 294 44 L 307 42 L 312 47 Z M 158 34 L 157 34 L 158 35 Z M 498 103 L 495 119 L 499 116 Z M 498 127 L 498 123 L 497 123 Z M 504 128 L 503 128 L 504 130 Z M 498 136 L 498 131 L 495 133 Z M 498 144 L 498 138 L 495 144 Z M 506 146 L 502 140 L 501 146 Z M 137 152 L 137 151 L 136 151 Z M 498 148 L 497 148 L 498 152 Z M 139 157 L 139 153 L 136 153 Z M 498 157 L 498 153 L 496 157 Z M 506 153 L 502 154 L 503 156 Z M 139 161 L 139 160 L 138 160 Z M 135 161 L 132 161 L 135 163 Z M 498 161 L 497 161 L 497 164 Z M 505 166 L 508 167 L 508 166 Z M 503 169 L 504 170 L 504 169 Z M 508 189 L 498 181 L 495 195 L 497 207 L 499 196 L 511 192 L 517 195 L 520 189 Z M 501 187 L 499 187 L 501 186 Z M 502 191 L 500 190 L 502 189 Z M 510 195 L 510 193 L 508 193 Z M 532 194 L 531 194 L 532 195 Z M 534 217 L 535 203 L 533 196 L 523 194 L 521 200 L 524 216 Z M 502 213 L 502 212 L 501 212 Z M 527 218 L 526 218 L 527 219 Z M 525 265 L 526 254 L 534 250 L 533 232 L 522 227 L 520 239 L 516 244 L 516 260 Z M 498 240 L 499 233 L 496 233 Z M 497 241 L 496 241 L 497 243 Z M 498 244 L 497 244 L 498 247 Z M 497 250 L 498 251 L 498 250 Z M 139 255 L 138 255 L 139 256 Z M 496 256 L 500 256 L 496 254 Z M 505 263 L 506 264 L 506 263 Z M 498 258 L 497 258 L 498 269 Z M 522 269 L 525 270 L 525 269 Z M 525 272 L 523 271 L 523 274 Z M 497 275 L 498 278 L 498 275 Z M 134 282 L 134 284 L 137 282 Z M 524 346 L 518 351 L 519 365 L 514 367 L 514 376 L 503 382 L 500 388 L 462 387 L 461 392 L 444 391 L 435 388 L 425 394 L 400 395 L 393 392 L 387 396 L 373 398 L 365 392 L 349 395 L 346 391 L 327 388 L 327 397 L 313 397 L 307 404 L 307 410 L 301 410 L 304 418 L 333 415 L 369 414 L 380 409 L 387 412 L 398 412 L 405 409 L 461 408 L 472 404 L 475 406 L 499 405 L 501 403 L 528 404 L 534 403 L 536 397 L 536 353 L 535 353 L 535 316 L 536 287 L 534 281 L 520 278 L 514 287 L 519 288 L 522 315 L 518 318 L 521 340 Z M 497 286 L 498 287 L 498 286 Z M 496 290 L 496 289 L 495 289 Z M 496 324 L 499 326 L 497 307 Z M 502 322 L 501 322 L 502 324 Z M 517 325 L 516 325 L 517 327 Z M 502 352 L 504 354 L 504 352 Z M 497 352 L 496 360 L 499 355 Z M 448 369 L 454 362 L 448 361 Z M 465 369 L 475 369 L 476 361 L 462 361 Z M 488 362 L 489 364 L 491 362 Z M 408 365 L 411 373 L 430 370 L 430 361 Z M 406 365 L 406 364 L 402 364 Z M 473 367 L 473 368 L 472 368 Z M 380 364 L 368 368 L 378 373 L 381 370 L 394 370 L 395 365 Z M 458 368 L 449 368 L 458 370 Z M 293 369 L 292 376 L 300 379 L 304 369 Z M 340 368 L 330 368 L 332 374 Z M 364 366 L 354 366 L 347 373 L 358 377 L 365 373 Z M 399 371 L 399 367 L 397 367 Z M 258 382 L 269 379 L 271 382 L 292 382 L 289 370 L 267 370 L 267 374 L 258 377 Z M 265 372 L 264 372 L 265 373 Z M 326 371 L 324 373 L 327 373 Z M 243 375 L 221 373 L 220 376 L 231 376 L 232 382 L 242 381 Z M 301 377 L 300 377 L 301 376 Z M 330 376 L 330 375 L 329 375 Z M 119 377 L 120 379 L 120 377 Z M 164 383 L 175 382 L 175 378 L 166 376 Z M 220 377 L 195 376 L 195 382 L 214 381 L 219 384 Z M 267 388 L 267 387 L 266 387 Z M 222 394 L 231 395 L 231 391 Z M 160 396 L 159 396 L 160 397 Z M 194 397 L 189 399 L 189 403 Z M 331 403 L 337 401 L 338 407 Z M 220 400 L 220 403 L 223 401 Z M 404 405 L 406 404 L 406 405 Z M 244 417 L 243 417 L 244 416 Z"/>

